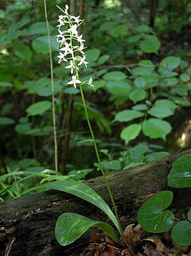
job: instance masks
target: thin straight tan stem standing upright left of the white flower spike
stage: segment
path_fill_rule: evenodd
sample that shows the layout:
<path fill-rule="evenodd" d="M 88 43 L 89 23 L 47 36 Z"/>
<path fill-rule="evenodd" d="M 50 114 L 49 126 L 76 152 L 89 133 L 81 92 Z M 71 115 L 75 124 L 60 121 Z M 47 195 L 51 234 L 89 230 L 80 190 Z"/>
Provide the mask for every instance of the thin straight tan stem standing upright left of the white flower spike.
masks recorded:
<path fill-rule="evenodd" d="M 48 32 L 48 45 L 49 45 L 49 54 L 50 54 L 50 64 L 51 64 L 51 86 L 52 86 L 52 116 L 53 116 L 53 127 L 54 127 L 54 157 L 55 157 L 55 170 L 58 171 L 58 162 L 57 162 L 57 128 L 56 128 L 56 115 L 55 115 L 55 103 L 54 103 L 54 77 L 53 77 L 53 64 L 52 64 L 52 51 L 51 51 L 51 39 L 50 39 L 50 30 L 48 24 L 48 15 L 46 8 L 46 0 L 44 0 L 45 6 L 45 19 Z"/>

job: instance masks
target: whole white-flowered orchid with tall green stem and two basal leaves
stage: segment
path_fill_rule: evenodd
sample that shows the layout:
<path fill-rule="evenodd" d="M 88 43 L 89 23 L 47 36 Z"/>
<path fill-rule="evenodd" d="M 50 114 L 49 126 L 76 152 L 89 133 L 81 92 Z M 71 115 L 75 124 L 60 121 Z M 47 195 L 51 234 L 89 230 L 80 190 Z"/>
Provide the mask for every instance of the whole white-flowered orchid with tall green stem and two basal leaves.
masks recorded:
<path fill-rule="evenodd" d="M 58 6 L 57 6 L 58 7 Z M 59 15 L 58 19 L 58 32 L 59 34 L 56 35 L 57 42 L 60 43 L 60 53 L 57 56 L 59 61 L 58 63 L 61 63 L 62 61 L 69 62 L 70 64 L 66 66 L 65 68 L 70 68 L 72 78 L 71 81 L 69 81 L 68 85 L 73 85 L 74 88 L 79 86 L 80 93 L 82 96 L 83 101 L 83 107 L 86 115 L 86 119 L 89 126 L 89 131 L 92 136 L 92 140 L 94 143 L 95 151 L 97 160 L 99 163 L 99 167 L 102 171 L 102 175 L 104 177 L 109 196 L 111 198 L 111 202 L 113 204 L 114 213 L 112 210 L 108 207 L 107 203 L 100 197 L 93 189 L 89 188 L 87 185 L 76 182 L 76 181 L 57 181 L 57 182 L 50 182 L 48 184 L 45 184 L 45 187 L 51 188 L 51 189 L 58 189 L 67 193 L 70 193 L 72 195 L 76 195 L 94 205 L 102 209 L 108 217 L 111 219 L 111 221 L 114 223 L 115 227 L 117 228 L 120 235 L 123 234 L 123 231 L 121 229 L 121 225 L 119 222 L 119 217 L 117 214 L 115 202 L 113 199 L 113 196 L 111 194 L 111 191 L 109 189 L 108 181 L 106 178 L 106 175 L 104 173 L 104 170 L 102 168 L 102 164 L 99 157 L 99 152 L 96 145 L 96 140 L 94 137 L 93 130 L 91 128 L 91 124 L 89 121 L 89 115 L 86 108 L 86 103 L 83 95 L 83 88 L 82 86 L 87 84 L 88 86 L 94 88 L 95 86 L 92 84 L 92 77 L 89 78 L 89 81 L 80 81 L 79 77 L 79 66 L 82 64 L 87 67 L 88 62 L 86 61 L 86 55 L 83 52 L 84 50 L 84 43 L 85 40 L 83 40 L 83 35 L 79 35 L 77 28 L 83 23 L 83 20 L 80 20 L 79 16 L 75 17 L 68 13 L 69 7 L 66 5 L 65 10 L 62 10 L 60 7 L 58 7 L 62 11 L 62 15 Z M 62 30 L 62 27 L 64 27 L 64 30 Z M 89 140 L 88 140 L 89 141 Z M 115 242 L 118 242 L 118 237 L 116 236 L 114 229 L 111 225 L 105 222 L 99 222 L 99 221 L 93 221 L 87 217 L 74 214 L 74 213 L 64 213 L 61 216 L 59 216 L 56 228 L 55 228 L 55 234 L 58 243 L 61 245 L 68 245 L 72 242 L 74 242 L 78 237 L 82 236 L 83 233 L 89 229 L 91 226 L 97 226 L 100 229 L 102 229 L 108 236 L 110 236 Z"/>

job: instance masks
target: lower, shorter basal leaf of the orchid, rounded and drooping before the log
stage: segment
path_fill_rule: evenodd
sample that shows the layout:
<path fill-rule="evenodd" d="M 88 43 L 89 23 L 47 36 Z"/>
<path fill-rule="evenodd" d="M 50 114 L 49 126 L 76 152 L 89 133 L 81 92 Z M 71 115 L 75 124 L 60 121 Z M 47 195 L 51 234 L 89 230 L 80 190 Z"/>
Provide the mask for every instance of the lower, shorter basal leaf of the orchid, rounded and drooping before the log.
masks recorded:
<path fill-rule="evenodd" d="M 75 213 L 64 213 L 58 217 L 55 227 L 57 242 L 62 246 L 73 243 L 92 226 L 99 227 L 108 236 L 110 236 L 115 243 L 118 242 L 119 239 L 115 235 L 111 225 L 105 222 L 93 221 L 87 217 Z"/>

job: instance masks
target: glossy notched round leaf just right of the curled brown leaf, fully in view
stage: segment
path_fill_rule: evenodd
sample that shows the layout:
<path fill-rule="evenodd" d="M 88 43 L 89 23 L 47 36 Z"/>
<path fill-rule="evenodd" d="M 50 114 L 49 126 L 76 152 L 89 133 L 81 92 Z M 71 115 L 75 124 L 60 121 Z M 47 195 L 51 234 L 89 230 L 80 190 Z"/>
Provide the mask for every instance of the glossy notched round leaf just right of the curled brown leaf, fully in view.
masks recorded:
<path fill-rule="evenodd" d="M 161 233 L 170 229 L 174 223 L 171 211 L 164 211 L 172 203 L 171 191 L 163 191 L 149 198 L 139 209 L 137 221 L 148 232 Z"/>

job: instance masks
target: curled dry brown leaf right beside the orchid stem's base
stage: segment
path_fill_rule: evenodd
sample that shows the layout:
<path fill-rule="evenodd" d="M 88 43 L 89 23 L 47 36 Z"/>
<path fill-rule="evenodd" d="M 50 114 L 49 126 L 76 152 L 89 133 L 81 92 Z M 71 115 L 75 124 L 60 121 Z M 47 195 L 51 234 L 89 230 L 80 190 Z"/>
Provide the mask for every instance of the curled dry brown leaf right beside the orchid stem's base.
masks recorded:
<path fill-rule="evenodd" d="M 141 237 L 137 230 L 133 228 L 134 224 L 128 225 L 120 238 L 120 243 L 123 246 L 128 246 L 134 249 L 135 247 L 141 246 Z"/>

